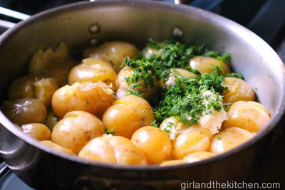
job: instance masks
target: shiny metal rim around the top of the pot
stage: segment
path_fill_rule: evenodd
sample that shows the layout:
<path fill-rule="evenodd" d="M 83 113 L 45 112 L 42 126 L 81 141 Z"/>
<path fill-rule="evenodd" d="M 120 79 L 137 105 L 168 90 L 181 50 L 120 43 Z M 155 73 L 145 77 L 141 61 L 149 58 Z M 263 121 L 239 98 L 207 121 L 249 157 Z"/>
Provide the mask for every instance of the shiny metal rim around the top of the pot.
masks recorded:
<path fill-rule="evenodd" d="M 213 14 L 209 11 L 204 11 L 202 9 L 197 9 L 192 6 L 186 6 L 186 5 L 175 5 L 175 4 L 169 4 L 165 2 L 159 2 L 159 1 L 142 1 L 142 0 L 99 0 L 94 2 L 77 2 L 73 4 L 68 4 L 64 6 L 58 6 L 53 9 L 49 9 L 47 11 L 43 11 L 39 14 L 33 15 L 30 18 L 28 18 L 26 21 L 21 21 L 20 23 L 17 23 L 16 26 L 13 28 L 10 28 L 8 31 L 3 33 L 0 36 L 0 48 L 1 46 L 4 46 L 6 41 L 9 41 L 9 38 L 13 36 L 17 31 L 21 30 L 21 28 L 24 28 L 30 24 L 36 23 L 37 21 L 53 16 L 54 14 L 61 14 L 65 11 L 71 11 L 71 10 L 77 10 L 77 9 L 88 9 L 90 6 L 97 6 L 97 5 L 115 5 L 120 4 L 124 6 L 148 6 L 152 7 L 152 9 L 164 9 L 165 11 L 176 11 L 178 14 L 189 14 L 192 16 L 195 16 L 198 19 L 202 19 L 204 21 L 207 21 L 212 24 L 219 24 L 223 23 L 223 27 L 227 28 L 227 30 L 234 31 L 234 33 L 239 33 L 238 36 L 242 36 L 242 34 L 247 35 L 247 40 L 250 41 L 259 41 L 259 43 L 262 44 L 263 48 L 266 48 L 267 50 L 271 51 L 271 54 L 279 60 L 278 63 L 273 63 L 276 65 L 276 67 L 280 68 L 281 76 L 279 77 L 281 86 L 280 86 L 280 94 L 281 98 L 279 102 L 277 103 L 276 111 L 274 112 L 274 115 L 271 117 L 271 120 L 269 123 L 264 127 L 263 130 L 258 132 L 258 134 L 250 139 L 248 142 L 240 145 L 239 147 L 230 150 L 229 152 L 225 152 L 224 154 L 219 154 L 215 157 L 204 159 L 199 162 L 193 162 L 188 164 L 179 164 L 174 166 L 165 166 L 165 167 L 159 167 L 158 165 L 149 165 L 149 166 L 129 166 L 129 165 L 118 165 L 118 164 L 104 164 L 100 162 L 92 162 L 87 159 L 81 159 L 78 157 L 74 157 L 70 154 L 66 154 L 63 152 L 56 151 L 55 149 L 51 147 L 47 147 L 44 144 L 39 143 L 36 139 L 33 139 L 32 137 L 28 137 L 28 135 L 24 134 L 19 130 L 1 111 L 0 111 L 0 122 L 1 124 L 10 132 L 15 134 L 17 137 L 19 137 L 24 142 L 32 145 L 33 147 L 36 147 L 38 149 L 41 149 L 41 151 L 48 152 L 50 154 L 56 155 L 58 157 L 62 157 L 64 159 L 68 159 L 73 162 L 78 162 L 81 164 L 88 164 L 92 165 L 94 167 L 100 167 L 104 169 L 119 169 L 119 170 L 131 170 L 131 171 L 159 171 L 159 170 L 167 170 L 167 169 L 180 169 L 184 167 L 195 167 L 200 164 L 206 164 L 206 163 L 212 163 L 216 162 L 220 159 L 224 159 L 226 157 L 230 157 L 234 154 L 237 154 L 237 152 L 240 152 L 244 149 L 247 149 L 247 147 L 250 147 L 252 144 L 257 143 L 260 139 L 264 138 L 266 134 L 269 134 L 274 127 L 281 121 L 281 118 L 284 116 L 285 113 L 285 68 L 284 64 L 282 63 L 279 56 L 275 53 L 275 51 L 259 36 L 254 34 L 252 31 L 249 31 L 249 29 L 245 28 L 244 26 L 239 25 L 238 23 L 235 23 L 234 21 L 231 21 L 229 19 L 224 18 L 223 16 L 219 16 L 217 14 Z M 242 33 L 242 34 L 240 34 Z M 245 37 L 244 37 L 245 38 Z M 244 39 L 246 40 L 246 39 Z M 274 55 L 275 54 L 275 55 Z M 1 151 L 0 151 L 1 153 Z"/>

